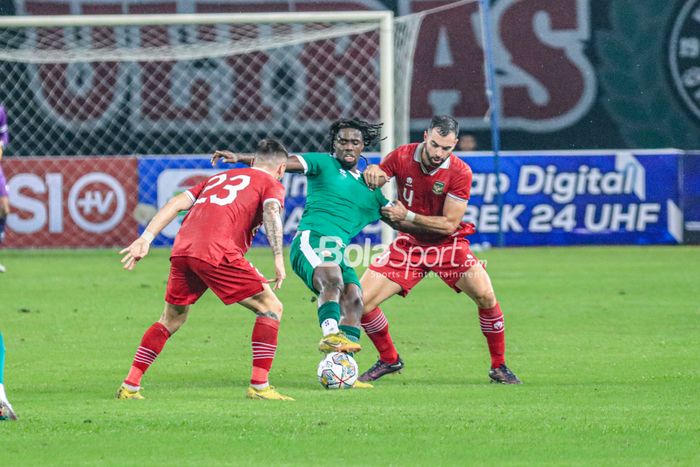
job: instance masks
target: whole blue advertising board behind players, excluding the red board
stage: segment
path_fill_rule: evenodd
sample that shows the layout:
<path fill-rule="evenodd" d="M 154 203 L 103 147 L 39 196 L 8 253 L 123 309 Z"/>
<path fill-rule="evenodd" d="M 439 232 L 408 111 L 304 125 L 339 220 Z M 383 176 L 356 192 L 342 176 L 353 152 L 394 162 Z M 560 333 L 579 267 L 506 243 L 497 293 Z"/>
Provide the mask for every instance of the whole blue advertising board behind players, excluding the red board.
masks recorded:
<path fill-rule="evenodd" d="M 506 153 L 500 159 L 507 246 L 582 244 L 676 244 L 683 239 L 680 163 L 682 152 L 574 151 Z M 465 220 L 477 226 L 472 242 L 498 243 L 494 160 L 490 153 L 460 155 L 473 171 Z M 368 155 L 370 163 L 378 154 Z M 362 167 L 361 167 L 362 168 Z M 208 156 L 143 157 L 139 160 L 139 208 L 154 213 L 214 169 Z M 284 239 L 289 244 L 306 202 L 306 178 L 287 174 Z M 172 243 L 181 218 L 163 230 L 156 245 Z M 379 243 L 381 223 L 355 239 Z M 254 245 L 266 245 L 258 232 Z"/>

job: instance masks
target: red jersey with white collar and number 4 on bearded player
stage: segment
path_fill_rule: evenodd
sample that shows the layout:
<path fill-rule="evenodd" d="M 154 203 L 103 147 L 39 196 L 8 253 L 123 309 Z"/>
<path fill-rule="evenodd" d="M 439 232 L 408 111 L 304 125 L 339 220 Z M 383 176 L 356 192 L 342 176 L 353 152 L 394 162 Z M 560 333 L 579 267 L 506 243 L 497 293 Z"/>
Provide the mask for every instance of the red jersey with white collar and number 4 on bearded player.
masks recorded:
<path fill-rule="evenodd" d="M 394 177 L 398 199 L 409 210 L 424 216 L 442 216 L 445 197 L 465 202 L 469 200 L 472 169 L 450 154 L 435 170 L 426 171 L 420 161 L 423 144 L 399 146 L 384 158 L 380 167 L 387 175 Z M 450 238 L 434 233 L 415 234 L 412 237 L 420 243 L 441 243 Z"/>

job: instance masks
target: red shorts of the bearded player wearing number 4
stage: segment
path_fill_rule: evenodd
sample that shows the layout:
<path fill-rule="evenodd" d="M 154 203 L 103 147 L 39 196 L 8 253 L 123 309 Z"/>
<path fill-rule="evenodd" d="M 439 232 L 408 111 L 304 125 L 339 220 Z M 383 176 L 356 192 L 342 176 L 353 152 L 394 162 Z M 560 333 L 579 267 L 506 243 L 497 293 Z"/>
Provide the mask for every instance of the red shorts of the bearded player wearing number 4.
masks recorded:
<path fill-rule="evenodd" d="M 455 291 L 457 282 L 469 268 L 479 262 L 464 238 L 455 238 L 438 245 L 420 245 L 399 236 L 379 255 L 369 269 L 401 286 L 402 296 L 408 295 L 421 279 L 434 272 Z"/>

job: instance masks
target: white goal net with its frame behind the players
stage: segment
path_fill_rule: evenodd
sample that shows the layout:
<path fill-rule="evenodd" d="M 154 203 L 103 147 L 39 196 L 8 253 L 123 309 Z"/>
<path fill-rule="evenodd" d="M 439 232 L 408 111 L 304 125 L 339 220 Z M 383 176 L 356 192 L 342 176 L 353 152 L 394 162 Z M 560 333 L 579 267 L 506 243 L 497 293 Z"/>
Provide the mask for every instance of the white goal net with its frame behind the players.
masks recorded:
<path fill-rule="evenodd" d="M 386 154 L 407 142 L 420 20 L 377 11 L 0 18 L 5 154 L 53 156 L 5 159 L 6 246 L 121 245 L 162 197 L 211 171 L 204 155 L 250 152 L 263 137 L 293 152 L 328 150 L 338 118 L 382 121 L 381 147 L 367 149 Z M 191 170 L 177 179 L 171 169 Z M 286 230 L 291 238 L 293 222 Z"/>

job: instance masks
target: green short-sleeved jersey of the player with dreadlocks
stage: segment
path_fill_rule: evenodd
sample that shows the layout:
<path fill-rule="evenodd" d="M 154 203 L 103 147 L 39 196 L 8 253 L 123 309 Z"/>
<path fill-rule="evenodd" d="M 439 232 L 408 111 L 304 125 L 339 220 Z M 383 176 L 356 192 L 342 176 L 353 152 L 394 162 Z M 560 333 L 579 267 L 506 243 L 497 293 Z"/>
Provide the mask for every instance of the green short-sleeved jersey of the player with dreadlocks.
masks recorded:
<path fill-rule="evenodd" d="M 344 169 L 328 153 L 297 154 L 307 178 L 307 196 L 299 230 L 336 236 L 346 245 L 362 229 L 381 218 L 389 203 L 382 191 L 371 190 L 360 171 Z"/>

